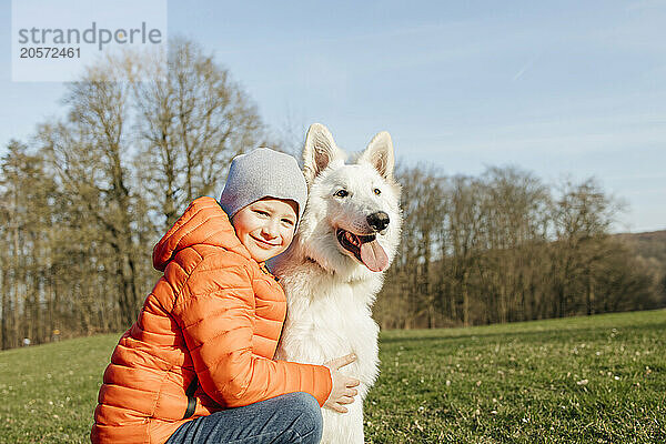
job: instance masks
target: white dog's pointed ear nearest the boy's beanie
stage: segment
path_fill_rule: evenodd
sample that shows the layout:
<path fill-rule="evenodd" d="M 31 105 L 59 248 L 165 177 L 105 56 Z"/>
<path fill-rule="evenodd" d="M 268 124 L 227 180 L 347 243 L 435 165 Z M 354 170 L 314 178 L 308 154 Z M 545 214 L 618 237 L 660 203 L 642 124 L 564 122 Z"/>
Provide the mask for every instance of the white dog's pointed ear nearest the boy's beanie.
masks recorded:
<path fill-rule="evenodd" d="M 311 124 L 303 148 L 303 174 L 307 186 L 334 159 L 344 159 L 344 153 L 335 144 L 331 131 L 321 123 Z"/>

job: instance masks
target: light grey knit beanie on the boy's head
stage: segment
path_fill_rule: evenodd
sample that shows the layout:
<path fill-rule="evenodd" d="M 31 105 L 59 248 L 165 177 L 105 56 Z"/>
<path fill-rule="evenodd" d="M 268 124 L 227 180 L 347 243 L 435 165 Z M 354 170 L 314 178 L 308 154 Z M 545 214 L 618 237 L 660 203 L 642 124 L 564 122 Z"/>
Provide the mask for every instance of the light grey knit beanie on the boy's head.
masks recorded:
<path fill-rule="evenodd" d="M 269 148 L 233 158 L 220 205 L 229 215 L 262 198 L 289 199 L 299 205 L 299 220 L 307 200 L 307 184 L 296 160 Z"/>

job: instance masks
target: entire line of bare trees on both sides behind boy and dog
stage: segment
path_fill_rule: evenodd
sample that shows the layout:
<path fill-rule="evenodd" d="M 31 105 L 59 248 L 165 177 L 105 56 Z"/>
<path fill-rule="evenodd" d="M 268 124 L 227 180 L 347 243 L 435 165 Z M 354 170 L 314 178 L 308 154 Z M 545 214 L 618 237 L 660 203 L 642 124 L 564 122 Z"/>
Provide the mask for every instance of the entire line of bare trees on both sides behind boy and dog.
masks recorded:
<path fill-rule="evenodd" d="M 258 145 L 299 151 L 200 47 L 169 48 L 165 72 L 131 56 L 92 67 L 69 85 L 63 118 L 8 143 L 2 349 L 127 329 L 159 278 L 152 246 L 193 199 L 216 196 L 230 160 Z M 555 193 L 513 168 L 446 178 L 403 167 L 397 178 L 405 222 L 375 305 L 383 327 L 664 305 L 659 272 L 608 235 L 616 208 L 593 181 Z"/>

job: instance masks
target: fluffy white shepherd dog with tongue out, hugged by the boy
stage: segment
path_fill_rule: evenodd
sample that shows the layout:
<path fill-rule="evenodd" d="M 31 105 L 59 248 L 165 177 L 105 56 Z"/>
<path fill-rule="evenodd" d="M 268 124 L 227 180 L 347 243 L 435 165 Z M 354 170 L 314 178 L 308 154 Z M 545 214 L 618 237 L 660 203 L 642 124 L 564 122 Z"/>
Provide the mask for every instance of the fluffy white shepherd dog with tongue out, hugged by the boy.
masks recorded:
<path fill-rule="evenodd" d="M 276 359 L 323 364 L 361 381 L 346 413 L 322 408 L 322 443 L 363 443 L 363 400 L 379 374 L 379 325 L 371 307 L 400 242 L 400 185 L 391 135 L 376 134 L 345 163 L 326 127 L 310 127 L 303 148 L 307 204 L 289 250 L 271 269 L 284 286 L 287 315 Z"/>

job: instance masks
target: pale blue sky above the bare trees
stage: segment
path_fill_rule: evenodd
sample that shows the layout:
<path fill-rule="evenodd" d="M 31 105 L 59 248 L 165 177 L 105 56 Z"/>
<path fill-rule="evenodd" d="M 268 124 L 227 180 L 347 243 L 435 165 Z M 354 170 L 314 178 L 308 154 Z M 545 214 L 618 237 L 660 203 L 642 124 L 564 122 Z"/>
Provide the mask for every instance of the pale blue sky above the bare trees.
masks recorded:
<path fill-rule="evenodd" d="M 38 12 L 36 12 L 38 13 Z M 666 1 L 170 1 L 169 33 L 229 68 L 274 128 L 326 124 L 401 162 L 547 182 L 596 176 L 616 231 L 666 229 Z M 62 83 L 11 82 L 0 10 L 0 153 L 62 112 Z"/>

